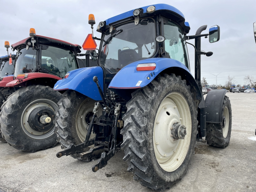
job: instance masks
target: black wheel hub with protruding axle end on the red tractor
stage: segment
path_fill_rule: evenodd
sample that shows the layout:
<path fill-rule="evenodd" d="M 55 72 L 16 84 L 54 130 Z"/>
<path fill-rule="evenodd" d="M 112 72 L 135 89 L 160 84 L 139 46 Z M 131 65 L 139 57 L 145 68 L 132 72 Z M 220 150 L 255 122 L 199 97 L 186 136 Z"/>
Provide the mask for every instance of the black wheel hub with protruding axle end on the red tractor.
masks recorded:
<path fill-rule="evenodd" d="M 53 118 L 54 111 L 51 108 L 37 107 L 29 114 L 28 124 L 34 131 L 46 132 L 52 128 Z"/>

